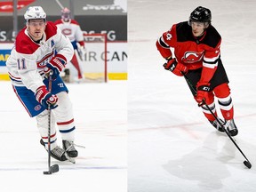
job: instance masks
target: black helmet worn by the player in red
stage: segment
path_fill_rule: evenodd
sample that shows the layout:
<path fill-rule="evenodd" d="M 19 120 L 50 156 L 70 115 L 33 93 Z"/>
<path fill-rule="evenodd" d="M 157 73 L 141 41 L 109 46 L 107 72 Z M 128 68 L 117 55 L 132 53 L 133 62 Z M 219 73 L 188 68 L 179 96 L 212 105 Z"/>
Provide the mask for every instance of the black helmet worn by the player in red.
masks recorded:
<path fill-rule="evenodd" d="M 208 24 L 210 24 L 212 21 L 212 13 L 209 9 L 202 7 L 202 6 L 198 6 L 190 14 L 188 23 L 191 24 L 191 21 L 208 22 Z"/>

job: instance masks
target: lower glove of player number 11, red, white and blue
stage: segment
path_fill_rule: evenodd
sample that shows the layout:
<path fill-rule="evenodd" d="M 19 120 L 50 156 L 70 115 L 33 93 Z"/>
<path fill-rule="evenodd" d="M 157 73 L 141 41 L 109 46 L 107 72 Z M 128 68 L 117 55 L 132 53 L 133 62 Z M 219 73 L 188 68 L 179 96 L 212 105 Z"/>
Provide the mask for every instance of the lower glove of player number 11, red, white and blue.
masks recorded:
<path fill-rule="evenodd" d="M 44 108 L 48 109 L 48 105 L 50 105 L 51 109 L 58 107 L 58 105 L 56 104 L 58 101 L 57 95 L 48 92 L 45 85 L 42 85 L 36 89 L 35 96 L 36 100 L 41 103 Z"/>

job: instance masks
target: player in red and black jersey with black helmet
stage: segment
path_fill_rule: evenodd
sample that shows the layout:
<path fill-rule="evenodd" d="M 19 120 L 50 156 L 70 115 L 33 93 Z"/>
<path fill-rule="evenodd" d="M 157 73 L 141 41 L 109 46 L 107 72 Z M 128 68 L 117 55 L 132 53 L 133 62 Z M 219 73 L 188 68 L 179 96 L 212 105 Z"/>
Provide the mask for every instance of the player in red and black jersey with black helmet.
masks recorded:
<path fill-rule="evenodd" d="M 231 136 L 238 131 L 234 122 L 234 108 L 228 86 L 228 76 L 220 60 L 221 36 L 212 26 L 212 13 L 198 6 L 191 12 L 189 20 L 172 25 L 156 42 L 157 50 L 167 62 L 164 68 L 176 76 L 186 74 L 196 93 L 196 102 L 202 106 L 204 116 L 220 132 L 222 126 L 212 116 L 203 101 L 217 116 L 214 97 L 217 98 L 224 122 L 221 124 Z M 173 48 L 173 53 L 170 48 Z M 192 90 L 191 90 L 192 91 Z"/>

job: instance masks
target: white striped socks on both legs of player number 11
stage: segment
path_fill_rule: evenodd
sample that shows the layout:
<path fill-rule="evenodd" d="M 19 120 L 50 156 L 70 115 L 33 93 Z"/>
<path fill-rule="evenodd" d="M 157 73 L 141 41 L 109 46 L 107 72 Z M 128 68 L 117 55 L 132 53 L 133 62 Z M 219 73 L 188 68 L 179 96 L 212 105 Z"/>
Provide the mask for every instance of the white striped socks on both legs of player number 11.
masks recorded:
<path fill-rule="evenodd" d="M 51 110 L 51 149 L 57 146 L 56 124 L 59 128 L 62 140 L 75 140 L 76 128 L 72 112 L 72 103 L 69 100 L 68 93 L 60 92 L 57 93 L 57 96 L 59 98 L 57 102 L 58 107 Z M 46 149 L 48 148 L 48 115 L 49 111 L 45 109 L 41 114 L 36 116 L 37 128 L 44 140 Z"/>

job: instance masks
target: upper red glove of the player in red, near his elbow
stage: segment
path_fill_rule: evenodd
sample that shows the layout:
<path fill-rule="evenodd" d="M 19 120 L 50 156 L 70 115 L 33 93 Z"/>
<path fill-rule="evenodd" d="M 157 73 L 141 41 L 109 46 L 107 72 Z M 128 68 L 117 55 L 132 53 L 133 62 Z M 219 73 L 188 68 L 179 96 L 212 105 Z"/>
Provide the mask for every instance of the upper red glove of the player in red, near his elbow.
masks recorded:
<path fill-rule="evenodd" d="M 183 76 L 181 72 L 183 72 L 184 74 L 188 72 L 188 68 L 186 66 L 177 62 L 175 58 L 172 59 L 172 57 L 168 59 L 166 63 L 164 63 L 164 68 L 166 70 L 172 71 L 172 73 L 175 74 L 176 76 Z"/>

